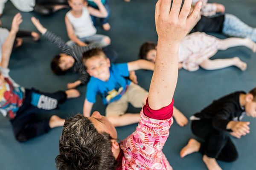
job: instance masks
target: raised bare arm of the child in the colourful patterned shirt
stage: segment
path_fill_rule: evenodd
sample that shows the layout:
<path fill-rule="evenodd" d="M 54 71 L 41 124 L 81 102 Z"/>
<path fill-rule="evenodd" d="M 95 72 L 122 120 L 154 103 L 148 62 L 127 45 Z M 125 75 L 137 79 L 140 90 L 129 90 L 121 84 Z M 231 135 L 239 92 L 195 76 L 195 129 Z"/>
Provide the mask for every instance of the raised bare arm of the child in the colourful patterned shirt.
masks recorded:
<path fill-rule="evenodd" d="M 2 68 L 8 68 L 9 60 L 12 54 L 13 43 L 14 43 L 17 31 L 19 31 L 20 23 L 22 23 L 22 16 L 20 13 L 18 13 L 14 16 L 12 20 L 11 31 L 2 46 L 2 60 L 0 62 L 0 66 Z"/>

